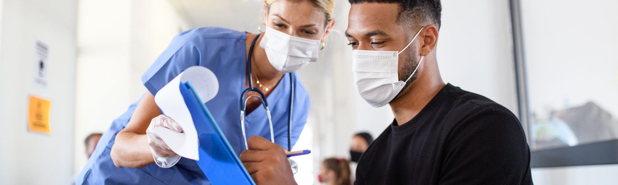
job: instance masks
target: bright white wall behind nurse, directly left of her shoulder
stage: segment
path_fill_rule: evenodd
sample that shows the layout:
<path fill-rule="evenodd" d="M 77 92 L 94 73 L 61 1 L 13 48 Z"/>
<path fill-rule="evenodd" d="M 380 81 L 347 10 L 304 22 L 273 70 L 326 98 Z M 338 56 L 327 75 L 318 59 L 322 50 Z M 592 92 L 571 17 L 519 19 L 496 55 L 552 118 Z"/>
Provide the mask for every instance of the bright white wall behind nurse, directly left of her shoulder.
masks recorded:
<path fill-rule="evenodd" d="M 74 173 L 87 161 L 83 139 L 146 92 L 142 74 L 187 29 L 166 0 L 82 0 L 78 11 Z"/>

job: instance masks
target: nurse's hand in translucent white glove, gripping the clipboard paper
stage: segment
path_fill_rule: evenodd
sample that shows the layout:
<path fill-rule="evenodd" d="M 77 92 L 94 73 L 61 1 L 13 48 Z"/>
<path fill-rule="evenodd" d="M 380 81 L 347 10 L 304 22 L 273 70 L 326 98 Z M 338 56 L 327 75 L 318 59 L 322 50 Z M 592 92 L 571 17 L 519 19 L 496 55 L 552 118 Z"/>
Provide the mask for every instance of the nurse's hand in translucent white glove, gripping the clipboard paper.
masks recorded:
<path fill-rule="evenodd" d="M 150 121 L 148 129 L 146 129 L 148 144 L 150 145 L 153 158 L 155 158 L 156 165 L 162 168 L 173 167 L 180 160 L 180 155 L 177 155 L 176 152 L 169 149 L 163 139 L 159 138 L 159 135 L 155 133 L 153 128 L 157 126 L 163 126 L 178 133 L 182 133 L 182 127 L 180 127 L 176 121 L 172 120 L 172 118 L 159 115 Z"/>

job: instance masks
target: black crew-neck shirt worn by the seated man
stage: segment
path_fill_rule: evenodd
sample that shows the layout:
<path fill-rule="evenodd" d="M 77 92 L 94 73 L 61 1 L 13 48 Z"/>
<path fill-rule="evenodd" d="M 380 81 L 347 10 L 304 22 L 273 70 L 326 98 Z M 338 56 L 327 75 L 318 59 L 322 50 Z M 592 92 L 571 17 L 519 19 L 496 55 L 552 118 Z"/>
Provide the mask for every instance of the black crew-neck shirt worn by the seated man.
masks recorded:
<path fill-rule="evenodd" d="M 486 97 L 446 84 L 412 120 L 384 130 L 355 184 L 533 184 L 522 125 Z"/>

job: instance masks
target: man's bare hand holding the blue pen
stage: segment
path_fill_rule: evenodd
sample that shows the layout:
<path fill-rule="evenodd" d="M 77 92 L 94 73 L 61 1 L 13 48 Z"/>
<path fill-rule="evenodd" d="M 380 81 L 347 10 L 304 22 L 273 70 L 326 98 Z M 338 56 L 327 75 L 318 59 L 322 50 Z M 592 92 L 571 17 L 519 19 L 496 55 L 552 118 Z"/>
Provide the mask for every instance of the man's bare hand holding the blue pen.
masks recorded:
<path fill-rule="evenodd" d="M 251 136 L 240 161 L 256 184 L 296 184 L 286 150 L 260 136 Z"/>

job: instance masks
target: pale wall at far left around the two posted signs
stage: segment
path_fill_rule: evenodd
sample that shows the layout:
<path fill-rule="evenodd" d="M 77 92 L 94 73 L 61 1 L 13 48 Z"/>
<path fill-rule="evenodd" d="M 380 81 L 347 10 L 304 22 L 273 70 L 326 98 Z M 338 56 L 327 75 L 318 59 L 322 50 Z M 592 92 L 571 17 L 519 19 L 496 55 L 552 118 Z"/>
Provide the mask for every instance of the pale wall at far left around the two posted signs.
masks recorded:
<path fill-rule="evenodd" d="M 77 1 L 6 0 L 1 8 L 1 184 L 69 184 Z M 37 39 L 49 45 L 46 89 L 33 84 Z M 27 131 L 28 94 L 51 99 L 51 134 Z"/>

